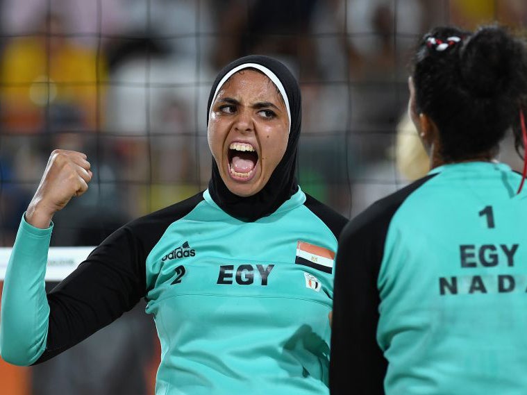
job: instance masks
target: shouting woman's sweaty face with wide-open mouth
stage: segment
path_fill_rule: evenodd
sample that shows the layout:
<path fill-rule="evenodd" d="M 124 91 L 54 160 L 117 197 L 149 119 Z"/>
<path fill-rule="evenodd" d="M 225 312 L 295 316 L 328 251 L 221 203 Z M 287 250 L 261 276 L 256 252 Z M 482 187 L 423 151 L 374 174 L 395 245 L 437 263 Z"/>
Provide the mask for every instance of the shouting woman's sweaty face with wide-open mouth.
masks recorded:
<path fill-rule="evenodd" d="M 267 76 L 244 70 L 229 78 L 212 103 L 208 124 L 210 151 L 228 190 L 252 196 L 265 187 L 287 148 L 289 122 Z M 249 155 L 252 150 L 256 155 Z"/>

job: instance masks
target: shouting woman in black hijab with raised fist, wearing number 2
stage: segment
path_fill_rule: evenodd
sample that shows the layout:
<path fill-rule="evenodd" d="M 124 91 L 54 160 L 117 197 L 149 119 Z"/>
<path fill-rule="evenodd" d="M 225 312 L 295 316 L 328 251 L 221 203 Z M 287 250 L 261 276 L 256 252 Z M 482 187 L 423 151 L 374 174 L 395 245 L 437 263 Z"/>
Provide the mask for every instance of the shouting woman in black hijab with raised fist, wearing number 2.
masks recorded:
<path fill-rule="evenodd" d="M 145 298 L 157 394 L 328 394 L 346 220 L 296 183 L 299 86 L 276 60 L 241 58 L 217 76 L 207 116 L 208 190 L 126 224 L 46 294 L 51 218 L 92 178 L 82 153 L 53 152 L 6 274 L 2 358 L 48 360 Z"/>

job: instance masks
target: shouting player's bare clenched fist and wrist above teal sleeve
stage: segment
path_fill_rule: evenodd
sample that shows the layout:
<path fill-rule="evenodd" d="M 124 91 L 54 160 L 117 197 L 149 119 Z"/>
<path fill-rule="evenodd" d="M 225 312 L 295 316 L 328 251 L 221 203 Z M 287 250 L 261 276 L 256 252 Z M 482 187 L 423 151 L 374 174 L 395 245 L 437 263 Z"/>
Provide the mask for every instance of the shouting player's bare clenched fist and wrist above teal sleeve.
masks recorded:
<path fill-rule="evenodd" d="M 49 156 L 40 185 L 26 211 L 26 221 L 47 228 L 53 215 L 65 208 L 73 196 L 87 191 L 92 179 L 90 162 L 83 153 L 56 149 Z"/>

